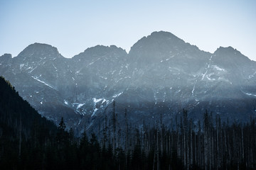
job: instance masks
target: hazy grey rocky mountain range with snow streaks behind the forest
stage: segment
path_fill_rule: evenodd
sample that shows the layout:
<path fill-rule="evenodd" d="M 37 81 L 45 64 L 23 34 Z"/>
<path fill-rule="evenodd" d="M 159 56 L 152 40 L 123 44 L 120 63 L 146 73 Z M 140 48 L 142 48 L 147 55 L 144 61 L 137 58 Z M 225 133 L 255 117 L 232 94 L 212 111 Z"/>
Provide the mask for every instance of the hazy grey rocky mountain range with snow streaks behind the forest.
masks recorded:
<path fill-rule="evenodd" d="M 125 108 L 134 125 L 160 117 L 174 125 L 183 108 L 194 120 L 206 109 L 242 121 L 256 113 L 256 62 L 233 47 L 204 52 L 164 31 L 142 38 L 128 54 L 97 45 L 67 59 L 35 43 L 17 57 L 3 55 L 0 64 L 0 74 L 41 115 L 55 123 L 64 117 L 78 133 L 102 129 L 113 111 L 122 125 Z"/>

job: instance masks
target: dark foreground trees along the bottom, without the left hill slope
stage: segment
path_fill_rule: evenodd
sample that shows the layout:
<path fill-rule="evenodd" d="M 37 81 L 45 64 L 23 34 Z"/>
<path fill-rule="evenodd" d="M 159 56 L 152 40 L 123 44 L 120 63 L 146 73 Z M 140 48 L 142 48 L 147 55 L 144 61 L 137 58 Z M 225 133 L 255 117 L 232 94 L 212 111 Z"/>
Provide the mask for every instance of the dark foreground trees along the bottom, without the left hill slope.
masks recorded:
<path fill-rule="evenodd" d="M 227 125 L 218 116 L 216 124 L 210 114 L 204 116 L 203 130 L 186 118 L 176 130 L 160 124 L 134 128 L 127 152 L 94 133 L 74 137 L 61 120 L 55 135 L 44 140 L 40 130 L 36 139 L 22 137 L 21 154 L 18 137 L 1 137 L 0 169 L 255 169 L 255 119 Z"/>

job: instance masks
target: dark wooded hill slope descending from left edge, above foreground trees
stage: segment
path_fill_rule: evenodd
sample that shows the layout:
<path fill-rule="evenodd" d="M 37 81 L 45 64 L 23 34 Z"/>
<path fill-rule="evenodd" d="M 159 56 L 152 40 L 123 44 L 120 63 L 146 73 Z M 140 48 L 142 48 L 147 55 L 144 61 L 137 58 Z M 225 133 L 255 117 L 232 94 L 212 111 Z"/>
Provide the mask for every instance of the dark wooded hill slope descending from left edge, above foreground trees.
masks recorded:
<path fill-rule="evenodd" d="M 20 126 L 21 123 L 21 126 Z M 56 130 L 55 125 L 42 118 L 37 111 L 31 107 L 28 101 L 24 101 L 14 86 L 3 77 L 0 78 L 0 134 L 6 139 L 18 138 L 21 129 L 23 137 L 31 137 L 35 124 L 49 132 Z"/>

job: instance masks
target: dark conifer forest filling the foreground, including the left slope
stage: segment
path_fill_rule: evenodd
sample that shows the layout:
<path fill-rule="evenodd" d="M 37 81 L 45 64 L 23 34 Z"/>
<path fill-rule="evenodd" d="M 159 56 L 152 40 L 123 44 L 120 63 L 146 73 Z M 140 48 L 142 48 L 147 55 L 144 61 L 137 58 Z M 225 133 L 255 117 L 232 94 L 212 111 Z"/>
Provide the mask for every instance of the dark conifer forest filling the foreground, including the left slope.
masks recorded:
<path fill-rule="evenodd" d="M 184 109 L 170 129 L 161 119 L 136 127 L 127 112 L 123 129 L 113 111 L 97 135 L 75 137 L 63 118 L 57 126 L 42 118 L 1 77 L 0 169 L 256 169 L 255 118 L 228 123 L 206 111 L 196 122 Z"/>

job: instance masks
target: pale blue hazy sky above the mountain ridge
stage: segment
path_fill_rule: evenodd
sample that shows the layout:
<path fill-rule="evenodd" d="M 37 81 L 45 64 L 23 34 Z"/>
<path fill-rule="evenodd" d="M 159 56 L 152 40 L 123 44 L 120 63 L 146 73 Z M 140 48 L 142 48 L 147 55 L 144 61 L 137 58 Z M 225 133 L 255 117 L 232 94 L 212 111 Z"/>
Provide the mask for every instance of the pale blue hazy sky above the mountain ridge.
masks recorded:
<path fill-rule="evenodd" d="M 41 42 L 64 57 L 87 47 L 129 52 L 143 36 L 164 30 L 201 50 L 232 46 L 256 61 L 256 1 L 1 0 L 0 55 Z"/>

